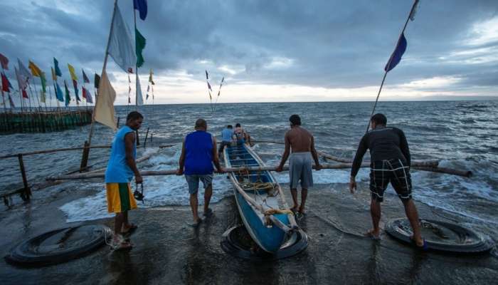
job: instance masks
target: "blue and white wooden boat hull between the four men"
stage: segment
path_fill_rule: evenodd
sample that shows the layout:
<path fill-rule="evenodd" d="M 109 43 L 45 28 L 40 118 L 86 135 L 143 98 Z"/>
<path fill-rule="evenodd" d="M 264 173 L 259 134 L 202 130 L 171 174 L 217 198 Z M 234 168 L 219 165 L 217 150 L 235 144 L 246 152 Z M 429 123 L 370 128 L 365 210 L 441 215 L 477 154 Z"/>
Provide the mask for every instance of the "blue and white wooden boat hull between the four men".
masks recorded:
<path fill-rule="evenodd" d="M 226 167 L 263 167 L 264 162 L 248 145 L 225 147 Z M 245 228 L 265 252 L 274 254 L 297 230 L 284 193 L 269 171 L 231 172 L 235 201 Z"/>

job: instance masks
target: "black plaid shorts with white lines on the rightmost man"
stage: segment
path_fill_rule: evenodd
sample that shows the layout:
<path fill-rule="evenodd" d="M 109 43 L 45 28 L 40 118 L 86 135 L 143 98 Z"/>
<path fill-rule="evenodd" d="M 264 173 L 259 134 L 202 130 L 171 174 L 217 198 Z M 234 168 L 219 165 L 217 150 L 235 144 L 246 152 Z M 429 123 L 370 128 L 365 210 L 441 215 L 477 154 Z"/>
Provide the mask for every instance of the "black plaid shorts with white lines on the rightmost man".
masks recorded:
<path fill-rule="evenodd" d="M 370 167 L 372 199 L 382 202 L 389 182 L 401 200 L 411 199 L 410 167 L 405 166 L 401 160 L 374 161 Z"/>

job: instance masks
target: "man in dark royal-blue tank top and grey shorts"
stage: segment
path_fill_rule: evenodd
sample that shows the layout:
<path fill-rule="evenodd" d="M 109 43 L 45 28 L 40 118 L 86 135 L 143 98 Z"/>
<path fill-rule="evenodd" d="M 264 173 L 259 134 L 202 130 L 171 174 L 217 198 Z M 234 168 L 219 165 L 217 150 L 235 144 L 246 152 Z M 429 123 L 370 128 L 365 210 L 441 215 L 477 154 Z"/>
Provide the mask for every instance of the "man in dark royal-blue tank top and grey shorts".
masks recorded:
<path fill-rule="evenodd" d="M 196 120 L 196 131 L 186 135 L 181 147 L 177 172 L 177 175 L 185 174 L 186 182 L 189 185 L 190 207 L 192 208 L 192 214 L 194 214 L 192 226 L 194 227 L 202 222 L 197 213 L 199 180 L 201 180 L 204 187 L 204 216 L 208 217 L 212 212 L 209 209 L 209 202 L 211 201 L 211 195 L 213 195 L 213 163 L 218 172 L 223 172 L 216 151 L 216 138 L 206 132 L 207 129 L 208 123 L 206 123 L 206 120 Z"/>

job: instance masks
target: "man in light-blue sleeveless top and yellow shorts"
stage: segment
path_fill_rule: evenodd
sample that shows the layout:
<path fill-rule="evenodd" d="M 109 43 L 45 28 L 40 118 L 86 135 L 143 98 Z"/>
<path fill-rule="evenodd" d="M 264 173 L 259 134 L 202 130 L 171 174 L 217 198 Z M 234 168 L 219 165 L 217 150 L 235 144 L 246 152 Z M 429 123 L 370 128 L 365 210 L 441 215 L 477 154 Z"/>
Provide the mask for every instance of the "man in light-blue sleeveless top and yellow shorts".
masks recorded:
<path fill-rule="evenodd" d="M 126 118 L 126 125 L 117 131 L 112 140 L 111 155 L 105 171 L 107 190 L 107 211 L 115 213 L 113 249 L 131 249 L 123 234 L 129 234 L 137 228 L 128 222 L 128 210 L 137 208 L 129 183 L 135 177 L 137 184 L 142 183 L 142 176 L 137 169 L 137 144 L 135 132 L 142 126 L 144 116 L 131 112 Z"/>

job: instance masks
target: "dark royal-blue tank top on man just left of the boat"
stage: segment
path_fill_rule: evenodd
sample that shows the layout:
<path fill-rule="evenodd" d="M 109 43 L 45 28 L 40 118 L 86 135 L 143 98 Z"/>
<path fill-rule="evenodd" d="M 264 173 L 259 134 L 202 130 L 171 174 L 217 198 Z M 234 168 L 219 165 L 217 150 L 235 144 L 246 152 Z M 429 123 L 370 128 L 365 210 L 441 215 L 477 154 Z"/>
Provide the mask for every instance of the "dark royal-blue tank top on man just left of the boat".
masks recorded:
<path fill-rule="evenodd" d="M 186 175 L 213 174 L 213 138 L 210 133 L 196 130 L 185 138 Z"/>

